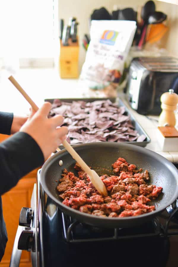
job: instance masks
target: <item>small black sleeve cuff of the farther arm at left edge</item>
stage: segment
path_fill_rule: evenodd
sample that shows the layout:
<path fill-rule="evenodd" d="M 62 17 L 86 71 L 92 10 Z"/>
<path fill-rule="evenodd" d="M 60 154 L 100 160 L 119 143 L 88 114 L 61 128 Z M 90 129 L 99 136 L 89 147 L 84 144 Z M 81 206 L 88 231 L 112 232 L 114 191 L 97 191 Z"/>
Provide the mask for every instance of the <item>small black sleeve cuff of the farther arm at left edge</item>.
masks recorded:
<path fill-rule="evenodd" d="M 0 112 L 0 134 L 10 135 L 13 113 Z"/>

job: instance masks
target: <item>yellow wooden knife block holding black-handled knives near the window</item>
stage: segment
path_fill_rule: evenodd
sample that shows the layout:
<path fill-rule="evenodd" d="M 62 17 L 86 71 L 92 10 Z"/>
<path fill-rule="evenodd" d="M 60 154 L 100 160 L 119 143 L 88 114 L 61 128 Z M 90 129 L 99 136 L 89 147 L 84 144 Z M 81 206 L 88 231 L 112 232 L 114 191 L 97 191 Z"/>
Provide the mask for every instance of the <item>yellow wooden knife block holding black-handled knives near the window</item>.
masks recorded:
<path fill-rule="evenodd" d="M 63 46 L 60 39 L 59 74 L 61 78 L 78 78 L 79 76 L 79 43 L 73 43 L 71 38 L 68 46 Z"/>

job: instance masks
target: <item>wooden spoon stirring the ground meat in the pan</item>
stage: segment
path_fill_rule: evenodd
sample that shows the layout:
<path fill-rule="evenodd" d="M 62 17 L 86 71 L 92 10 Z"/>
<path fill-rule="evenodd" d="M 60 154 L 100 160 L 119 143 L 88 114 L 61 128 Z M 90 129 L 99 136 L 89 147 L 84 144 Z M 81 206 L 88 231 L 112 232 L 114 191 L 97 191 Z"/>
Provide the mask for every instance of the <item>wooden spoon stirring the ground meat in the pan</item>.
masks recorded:
<path fill-rule="evenodd" d="M 28 94 L 23 90 L 23 88 L 18 84 L 18 82 L 14 79 L 13 76 L 10 76 L 8 78 L 12 84 L 19 90 L 19 92 L 24 96 L 24 98 L 28 101 L 28 103 L 31 105 L 31 107 L 37 111 L 39 108 L 36 106 L 34 101 L 28 96 Z M 71 154 L 71 156 L 80 164 L 82 169 L 88 174 L 90 181 L 94 185 L 94 187 L 98 190 L 98 192 L 103 195 L 107 196 L 107 189 L 101 180 L 101 178 L 98 176 L 96 171 L 91 170 L 88 165 L 82 160 L 82 158 L 77 154 L 77 152 L 71 147 L 71 145 L 65 140 L 63 141 L 63 146 L 66 148 L 66 150 Z M 59 151 L 59 149 L 56 149 Z"/>

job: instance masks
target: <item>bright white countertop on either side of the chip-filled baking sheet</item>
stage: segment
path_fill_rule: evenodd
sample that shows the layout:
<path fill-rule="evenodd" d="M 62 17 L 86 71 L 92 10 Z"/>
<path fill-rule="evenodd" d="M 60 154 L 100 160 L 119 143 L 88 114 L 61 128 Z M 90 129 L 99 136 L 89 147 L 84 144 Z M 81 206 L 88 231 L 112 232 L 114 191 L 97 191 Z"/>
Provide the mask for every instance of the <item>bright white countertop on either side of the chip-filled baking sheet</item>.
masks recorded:
<path fill-rule="evenodd" d="M 7 71 L 0 71 L 0 110 L 27 114 L 30 105 L 8 80 L 9 76 Z M 84 98 L 86 96 L 86 89 L 81 87 L 77 79 L 61 79 L 57 69 L 20 69 L 13 76 L 39 107 L 47 98 Z M 123 97 L 121 99 L 150 137 L 151 142 L 146 148 L 159 153 L 173 163 L 178 163 L 178 148 L 177 152 L 160 151 L 155 134 L 158 117 L 149 116 L 152 120 L 148 119 L 131 109 Z"/>

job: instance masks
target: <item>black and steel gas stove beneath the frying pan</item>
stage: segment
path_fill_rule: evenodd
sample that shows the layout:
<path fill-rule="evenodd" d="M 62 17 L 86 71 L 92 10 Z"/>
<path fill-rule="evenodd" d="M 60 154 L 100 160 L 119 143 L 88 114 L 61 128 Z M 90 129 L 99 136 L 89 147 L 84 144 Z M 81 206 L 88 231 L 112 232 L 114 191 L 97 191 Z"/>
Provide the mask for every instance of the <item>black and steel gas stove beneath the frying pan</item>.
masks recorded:
<path fill-rule="evenodd" d="M 40 184 L 40 170 L 31 208 L 22 208 L 12 251 L 19 266 L 22 250 L 32 266 L 178 266 L 178 200 L 158 217 L 131 228 L 97 228 L 82 224 L 56 206 Z"/>

